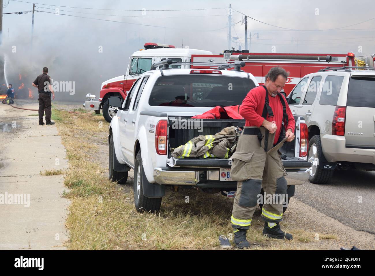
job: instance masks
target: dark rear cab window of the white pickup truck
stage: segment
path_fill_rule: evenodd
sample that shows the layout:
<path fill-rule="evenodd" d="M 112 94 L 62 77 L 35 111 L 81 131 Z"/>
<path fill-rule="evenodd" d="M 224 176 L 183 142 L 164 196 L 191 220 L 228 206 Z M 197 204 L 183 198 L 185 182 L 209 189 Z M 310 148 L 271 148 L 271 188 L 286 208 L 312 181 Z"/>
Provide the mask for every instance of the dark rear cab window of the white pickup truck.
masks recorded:
<path fill-rule="evenodd" d="M 223 75 L 168 75 L 157 79 L 150 106 L 215 107 L 242 104 L 255 87 L 249 78 Z"/>

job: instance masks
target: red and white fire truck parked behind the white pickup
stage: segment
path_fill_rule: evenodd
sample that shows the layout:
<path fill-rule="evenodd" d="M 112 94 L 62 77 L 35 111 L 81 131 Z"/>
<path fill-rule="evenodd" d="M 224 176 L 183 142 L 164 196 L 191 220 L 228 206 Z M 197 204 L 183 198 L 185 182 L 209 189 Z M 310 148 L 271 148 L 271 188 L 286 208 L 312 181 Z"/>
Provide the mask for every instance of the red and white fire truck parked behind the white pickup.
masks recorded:
<path fill-rule="evenodd" d="M 225 50 L 223 54 L 212 54 L 209 51 L 189 48 L 175 48 L 173 45 L 148 42 L 145 50 L 136 51 L 129 60 L 127 71 L 124 75 L 104 81 L 101 85 L 99 101 L 95 101 L 93 94 L 86 95 L 84 107 L 100 113 L 106 121 L 111 122 L 117 112 L 115 107 L 108 106 L 110 96 L 121 96 L 125 99 L 127 91 L 142 73 L 151 70 L 151 65 L 164 59 L 172 59 L 175 62 L 201 62 L 204 65 L 172 65 L 176 68 L 217 68 L 215 63 L 233 63 L 237 60 L 245 62 L 242 69 L 254 75 L 259 84 L 264 83 L 264 76 L 274 66 L 282 66 L 290 72 L 287 85 L 284 87 L 288 95 L 300 79 L 313 72 L 326 67 L 354 66 L 354 53 L 347 54 L 293 54 L 293 53 L 246 53 L 245 51 Z M 374 57 L 375 59 L 375 57 Z M 371 59 L 374 66 L 374 61 Z M 207 63 L 213 63 L 212 66 Z"/>

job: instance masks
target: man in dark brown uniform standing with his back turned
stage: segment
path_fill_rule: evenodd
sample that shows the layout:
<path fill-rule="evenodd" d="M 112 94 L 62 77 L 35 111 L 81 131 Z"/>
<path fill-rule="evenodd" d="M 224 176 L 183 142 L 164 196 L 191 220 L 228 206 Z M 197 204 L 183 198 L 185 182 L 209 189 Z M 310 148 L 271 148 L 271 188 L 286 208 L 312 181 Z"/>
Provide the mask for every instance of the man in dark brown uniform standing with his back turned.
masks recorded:
<path fill-rule="evenodd" d="M 54 122 L 51 122 L 52 115 L 52 103 L 51 103 L 51 94 L 52 100 L 55 98 L 55 93 L 53 92 L 51 77 L 47 75 L 48 68 L 43 67 L 43 74 L 36 77 L 33 82 L 33 86 L 38 89 L 38 101 L 39 101 L 39 125 L 44 125 L 43 114 L 46 113 L 46 125 L 54 125 Z"/>

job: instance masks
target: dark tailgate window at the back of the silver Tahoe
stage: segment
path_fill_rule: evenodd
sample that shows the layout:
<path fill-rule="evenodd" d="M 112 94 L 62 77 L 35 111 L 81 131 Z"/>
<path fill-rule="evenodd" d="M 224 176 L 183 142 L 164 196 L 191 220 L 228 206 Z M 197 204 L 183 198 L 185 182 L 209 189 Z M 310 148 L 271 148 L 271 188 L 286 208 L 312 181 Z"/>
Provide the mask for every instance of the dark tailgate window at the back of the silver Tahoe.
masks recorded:
<path fill-rule="evenodd" d="M 375 76 L 350 78 L 347 106 L 375 107 Z"/>

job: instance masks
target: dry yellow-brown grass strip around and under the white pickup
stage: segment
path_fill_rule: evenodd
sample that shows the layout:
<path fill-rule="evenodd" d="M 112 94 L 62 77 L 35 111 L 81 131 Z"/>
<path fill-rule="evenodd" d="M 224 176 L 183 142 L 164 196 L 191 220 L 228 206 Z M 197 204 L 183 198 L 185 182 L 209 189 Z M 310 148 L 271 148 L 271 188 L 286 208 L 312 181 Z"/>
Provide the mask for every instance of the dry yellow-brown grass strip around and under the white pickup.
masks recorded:
<path fill-rule="evenodd" d="M 108 123 L 92 112 L 54 112 L 62 119 L 56 125 L 69 158 L 69 170 L 64 176 L 69 189 L 64 196 L 71 199 L 66 218 L 69 249 L 210 250 L 219 249 L 219 235 L 233 236 L 229 223 L 233 201 L 221 195 L 193 189 L 168 191 L 160 213 L 136 212 L 132 189 L 125 192 L 111 182 L 106 176 L 107 168 L 93 162 L 87 154 L 87 148 L 95 146 L 87 142 L 82 131 L 90 131 L 93 137 L 106 142 Z M 189 203 L 185 202 L 186 196 Z M 305 250 L 315 243 L 315 233 L 290 228 L 288 223 L 282 226 L 294 235 L 293 241 L 266 238 L 262 235 L 263 225 L 257 210 L 248 231 L 252 249 Z"/>

